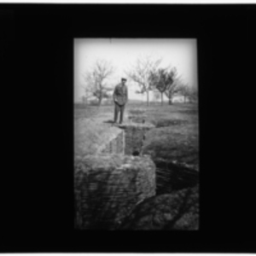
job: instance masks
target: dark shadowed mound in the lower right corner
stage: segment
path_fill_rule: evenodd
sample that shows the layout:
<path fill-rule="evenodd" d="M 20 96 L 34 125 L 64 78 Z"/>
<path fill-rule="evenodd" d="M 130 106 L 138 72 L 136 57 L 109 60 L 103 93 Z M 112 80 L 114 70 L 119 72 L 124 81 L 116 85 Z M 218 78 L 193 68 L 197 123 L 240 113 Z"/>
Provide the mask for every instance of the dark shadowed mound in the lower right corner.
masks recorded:
<path fill-rule="evenodd" d="M 198 230 L 198 185 L 157 195 L 137 205 L 120 230 Z"/>

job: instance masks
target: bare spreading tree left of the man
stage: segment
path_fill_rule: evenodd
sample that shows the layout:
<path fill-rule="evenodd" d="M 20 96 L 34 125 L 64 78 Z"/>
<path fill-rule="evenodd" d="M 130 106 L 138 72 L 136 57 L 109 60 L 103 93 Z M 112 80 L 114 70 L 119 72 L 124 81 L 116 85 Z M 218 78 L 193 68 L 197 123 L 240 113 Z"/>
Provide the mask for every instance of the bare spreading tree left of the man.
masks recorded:
<path fill-rule="evenodd" d="M 98 105 L 100 106 L 103 98 L 108 98 L 108 91 L 113 90 L 108 88 L 106 79 L 114 72 L 112 64 L 105 60 L 97 60 L 90 71 L 84 73 L 83 78 L 86 83 L 84 86 L 87 97 L 96 96 Z M 89 96 L 88 96 L 89 93 Z"/>

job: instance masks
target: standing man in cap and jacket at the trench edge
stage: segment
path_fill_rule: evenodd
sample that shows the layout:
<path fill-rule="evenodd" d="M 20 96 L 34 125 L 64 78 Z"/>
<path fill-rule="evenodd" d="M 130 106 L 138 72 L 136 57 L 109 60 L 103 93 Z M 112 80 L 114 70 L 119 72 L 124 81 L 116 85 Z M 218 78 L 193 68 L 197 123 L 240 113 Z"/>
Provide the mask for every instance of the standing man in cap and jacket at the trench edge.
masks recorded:
<path fill-rule="evenodd" d="M 125 82 L 127 79 L 121 79 L 121 83 L 117 84 L 113 90 L 113 102 L 114 102 L 114 118 L 113 123 L 116 124 L 118 115 L 120 112 L 119 124 L 123 122 L 125 104 L 128 101 L 128 90 Z"/>

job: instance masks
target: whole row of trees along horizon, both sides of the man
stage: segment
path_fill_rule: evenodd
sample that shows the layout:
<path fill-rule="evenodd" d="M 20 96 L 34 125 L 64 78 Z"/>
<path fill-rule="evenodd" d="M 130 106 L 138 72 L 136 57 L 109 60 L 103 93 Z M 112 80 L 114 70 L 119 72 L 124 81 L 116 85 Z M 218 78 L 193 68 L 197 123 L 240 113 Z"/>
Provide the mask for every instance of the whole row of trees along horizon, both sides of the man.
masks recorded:
<path fill-rule="evenodd" d="M 189 84 L 184 84 L 176 67 L 160 67 L 161 59 L 153 60 L 150 57 L 140 57 L 134 66 L 125 73 L 129 79 L 135 82 L 139 94 L 147 94 L 147 105 L 149 106 L 149 91 L 158 90 L 160 93 L 161 105 L 163 105 L 163 96 L 168 98 L 169 105 L 172 105 L 173 96 L 177 93 L 183 96 L 183 102 L 192 102 L 197 100 L 197 90 Z M 89 71 L 83 74 L 85 85 L 85 96 L 83 102 L 91 96 L 95 96 L 98 106 L 102 99 L 111 98 L 110 92 L 113 86 L 108 87 L 106 80 L 114 73 L 115 68 L 111 62 L 97 60 Z M 114 84 L 115 85 L 115 84 Z M 157 96 L 156 96 L 157 97 Z"/>

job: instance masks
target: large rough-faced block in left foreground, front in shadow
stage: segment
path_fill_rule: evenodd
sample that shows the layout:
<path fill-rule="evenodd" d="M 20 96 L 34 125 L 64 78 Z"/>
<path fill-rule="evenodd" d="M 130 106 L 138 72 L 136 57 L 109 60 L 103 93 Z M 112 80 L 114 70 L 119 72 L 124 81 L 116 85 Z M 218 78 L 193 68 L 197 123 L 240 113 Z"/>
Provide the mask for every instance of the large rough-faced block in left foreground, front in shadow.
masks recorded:
<path fill-rule="evenodd" d="M 155 195 L 155 166 L 147 156 L 77 157 L 74 176 L 77 229 L 114 230 L 139 202 Z"/>

